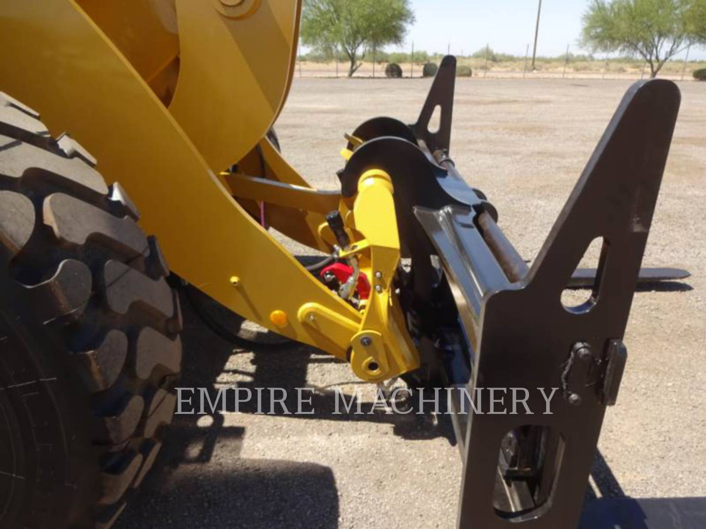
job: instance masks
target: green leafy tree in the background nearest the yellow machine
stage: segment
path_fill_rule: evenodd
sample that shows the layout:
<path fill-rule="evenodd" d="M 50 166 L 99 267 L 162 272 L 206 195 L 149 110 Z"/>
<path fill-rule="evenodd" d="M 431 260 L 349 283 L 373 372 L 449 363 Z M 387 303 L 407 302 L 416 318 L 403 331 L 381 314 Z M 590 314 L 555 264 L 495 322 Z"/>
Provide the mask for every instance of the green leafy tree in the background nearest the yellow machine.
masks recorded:
<path fill-rule="evenodd" d="M 366 51 L 401 44 L 413 22 L 409 0 L 304 0 L 301 39 L 328 56 L 342 48 L 352 77 Z"/>

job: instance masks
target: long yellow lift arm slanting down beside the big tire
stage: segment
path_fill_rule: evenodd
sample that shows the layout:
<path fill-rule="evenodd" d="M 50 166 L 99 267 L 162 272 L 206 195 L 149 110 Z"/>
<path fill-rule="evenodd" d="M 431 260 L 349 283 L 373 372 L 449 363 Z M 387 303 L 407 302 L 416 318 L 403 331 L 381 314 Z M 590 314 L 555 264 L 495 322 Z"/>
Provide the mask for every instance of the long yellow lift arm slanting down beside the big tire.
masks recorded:
<path fill-rule="evenodd" d="M 6 2 L 0 34 L 0 90 L 41 111 L 52 133 L 71 130 L 107 181 L 124 184 L 175 272 L 265 327 L 273 328 L 271 312 L 284 311 L 289 326 L 277 332 L 313 345 L 297 318 L 303 300 L 360 322 L 359 312 L 225 192 L 162 102 L 75 2 Z"/>

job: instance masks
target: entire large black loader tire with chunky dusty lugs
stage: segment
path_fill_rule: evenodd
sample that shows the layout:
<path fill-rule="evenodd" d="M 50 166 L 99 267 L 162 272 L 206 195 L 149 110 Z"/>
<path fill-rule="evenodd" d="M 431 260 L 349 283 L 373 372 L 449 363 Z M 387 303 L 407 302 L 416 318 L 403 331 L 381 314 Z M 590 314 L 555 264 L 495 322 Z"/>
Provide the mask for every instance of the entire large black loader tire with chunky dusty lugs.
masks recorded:
<path fill-rule="evenodd" d="M 177 295 L 124 190 L 0 92 L 0 527 L 108 528 L 174 413 Z"/>

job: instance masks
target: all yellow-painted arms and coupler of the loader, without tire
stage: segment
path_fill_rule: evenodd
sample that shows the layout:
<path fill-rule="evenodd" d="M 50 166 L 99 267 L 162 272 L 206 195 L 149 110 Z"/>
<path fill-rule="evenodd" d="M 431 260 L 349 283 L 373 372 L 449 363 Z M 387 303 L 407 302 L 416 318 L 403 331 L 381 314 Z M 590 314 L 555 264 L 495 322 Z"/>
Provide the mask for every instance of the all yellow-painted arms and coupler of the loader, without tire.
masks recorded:
<path fill-rule="evenodd" d="M 393 288 L 390 178 L 369 171 L 342 200 L 265 138 L 292 83 L 300 14 L 301 0 L 8 0 L 0 90 L 120 181 L 179 276 L 377 382 L 419 365 Z M 354 307 L 307 272 L 253 220 L 262 202 L 271 226 L 325 253 L 324 217 L 339 209 L 354 243 L 341 257 L 355 254 L 369 300 Z"/>

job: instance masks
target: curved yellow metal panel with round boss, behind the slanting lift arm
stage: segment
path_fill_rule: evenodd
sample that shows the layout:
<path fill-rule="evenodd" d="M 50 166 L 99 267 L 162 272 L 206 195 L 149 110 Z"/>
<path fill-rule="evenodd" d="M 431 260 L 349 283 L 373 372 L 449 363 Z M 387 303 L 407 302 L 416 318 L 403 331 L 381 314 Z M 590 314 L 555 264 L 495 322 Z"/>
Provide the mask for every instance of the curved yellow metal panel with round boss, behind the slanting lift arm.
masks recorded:
<path fill-rule="evenodd" d="M 228 18 L 210 2 L 177 0 L 181 70 L 169 109 L 213 171 L 244 157 L 280 113 L 300 10 L 301 0 L 261 0 L 251 16 Z"/>

